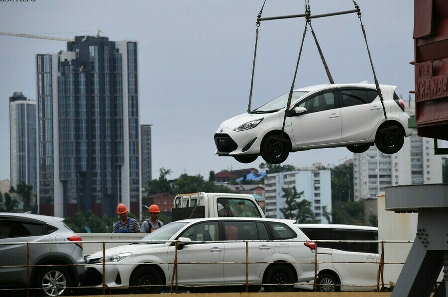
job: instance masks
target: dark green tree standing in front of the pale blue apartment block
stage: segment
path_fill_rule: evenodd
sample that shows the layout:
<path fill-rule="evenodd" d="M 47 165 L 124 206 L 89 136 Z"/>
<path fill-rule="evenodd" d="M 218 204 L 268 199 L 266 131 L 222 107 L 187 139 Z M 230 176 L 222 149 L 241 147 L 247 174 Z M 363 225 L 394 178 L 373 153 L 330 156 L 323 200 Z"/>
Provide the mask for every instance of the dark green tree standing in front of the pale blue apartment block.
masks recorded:
<path fill-rule="evenodd" d="M 285 199 L 285 207 L 280 208 L 286 219 L 295 219 L 298 223 L 315 223 L 316 217 L 311 209 L 311 202 L 300 199 L 303 191 L 298 193 L 296 187 L 283 189 L 282 198 Z"/>

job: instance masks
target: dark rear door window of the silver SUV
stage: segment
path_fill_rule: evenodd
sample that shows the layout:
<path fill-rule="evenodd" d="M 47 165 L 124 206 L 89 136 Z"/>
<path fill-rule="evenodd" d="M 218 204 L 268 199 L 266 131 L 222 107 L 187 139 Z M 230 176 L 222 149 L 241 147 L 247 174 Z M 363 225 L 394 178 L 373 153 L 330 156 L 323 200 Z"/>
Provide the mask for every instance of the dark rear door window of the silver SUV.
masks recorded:
<path fill-rule="evenodd" d="M 0 220 L 0 238 L 39 236 L 44 234 L 43 224 Z"/>

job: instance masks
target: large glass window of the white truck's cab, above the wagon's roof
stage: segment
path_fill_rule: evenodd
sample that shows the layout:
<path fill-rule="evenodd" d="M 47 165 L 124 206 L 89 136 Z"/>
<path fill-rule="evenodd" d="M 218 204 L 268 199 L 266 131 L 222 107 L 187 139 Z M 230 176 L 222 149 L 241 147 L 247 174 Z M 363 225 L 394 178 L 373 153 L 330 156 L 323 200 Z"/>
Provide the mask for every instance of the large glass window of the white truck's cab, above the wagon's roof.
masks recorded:
<path fill-rule="evenodd" d="M 218 216 L 262 217 L 254 201 L 249 199 L 218 198 L 217 204 Z"/>

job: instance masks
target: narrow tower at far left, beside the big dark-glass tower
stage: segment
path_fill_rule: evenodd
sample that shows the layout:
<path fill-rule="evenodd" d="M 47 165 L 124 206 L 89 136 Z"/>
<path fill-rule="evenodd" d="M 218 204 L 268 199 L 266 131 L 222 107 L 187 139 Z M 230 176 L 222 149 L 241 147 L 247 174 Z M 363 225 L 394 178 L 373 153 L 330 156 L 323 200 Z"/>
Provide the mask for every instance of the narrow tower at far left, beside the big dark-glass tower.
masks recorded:
<path fill-rule="evenodd" d="M 22 92 L 9 97 L 9 146 L 11 186 L 20 182 L 37 189 L 36 101 Z"/>

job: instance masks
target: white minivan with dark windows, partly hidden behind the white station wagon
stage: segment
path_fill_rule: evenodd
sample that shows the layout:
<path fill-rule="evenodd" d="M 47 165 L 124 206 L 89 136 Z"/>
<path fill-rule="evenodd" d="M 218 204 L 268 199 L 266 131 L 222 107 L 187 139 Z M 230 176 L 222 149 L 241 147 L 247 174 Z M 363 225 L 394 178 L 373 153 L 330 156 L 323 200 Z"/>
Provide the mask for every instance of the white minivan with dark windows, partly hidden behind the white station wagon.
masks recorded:
<path fill-rule="evenodd" d="M 337 224 L 294 225 L 310 240 L 378 240 L 376 227 Z M 320 263 L 319 292 L 376 289 L 379 266 L 378 243 L 318 242 L 317 247 Z M 313 289 L 310 285 L 299 288 Z"/>

